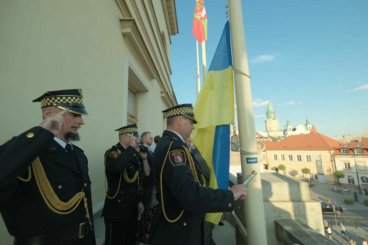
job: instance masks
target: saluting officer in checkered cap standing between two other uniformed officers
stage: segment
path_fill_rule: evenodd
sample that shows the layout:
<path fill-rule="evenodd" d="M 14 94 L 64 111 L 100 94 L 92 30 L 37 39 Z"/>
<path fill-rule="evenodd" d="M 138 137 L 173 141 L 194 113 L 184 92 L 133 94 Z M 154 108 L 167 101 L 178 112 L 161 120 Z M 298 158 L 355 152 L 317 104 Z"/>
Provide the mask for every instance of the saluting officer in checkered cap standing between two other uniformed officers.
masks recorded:
<path fill-rule="evenodd" d="M 105 244 L 134 245 L 138 213 L 142 214 L 144 210 L 141 202 L 142 178 L 149 175 L 149 166 L 146 153 L 139 152 L 137 146 L 137 125 L 115 131 L 119 131 L 119 142 L 105 153 L 108 186 L 102 212 Z M 142 163 L 138 161 L 139 156 Z"/>

